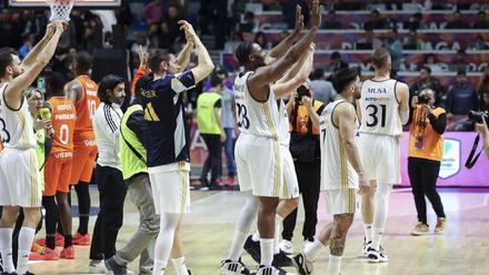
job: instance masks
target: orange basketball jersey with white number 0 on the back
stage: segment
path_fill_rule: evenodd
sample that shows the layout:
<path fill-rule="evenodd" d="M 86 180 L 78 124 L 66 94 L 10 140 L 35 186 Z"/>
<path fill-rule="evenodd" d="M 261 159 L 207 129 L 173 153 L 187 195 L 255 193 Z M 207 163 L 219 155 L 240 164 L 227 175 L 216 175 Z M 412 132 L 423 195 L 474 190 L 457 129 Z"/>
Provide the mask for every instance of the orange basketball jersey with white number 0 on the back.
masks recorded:
<path fill-rule="evenodd" d="M 63 96 L 53 96 L 49 102 L 52 106 L 51 121 L 54 130 L 51 153 L 72 152 L 74 123 L 77 121 L 74 105 Z"/>

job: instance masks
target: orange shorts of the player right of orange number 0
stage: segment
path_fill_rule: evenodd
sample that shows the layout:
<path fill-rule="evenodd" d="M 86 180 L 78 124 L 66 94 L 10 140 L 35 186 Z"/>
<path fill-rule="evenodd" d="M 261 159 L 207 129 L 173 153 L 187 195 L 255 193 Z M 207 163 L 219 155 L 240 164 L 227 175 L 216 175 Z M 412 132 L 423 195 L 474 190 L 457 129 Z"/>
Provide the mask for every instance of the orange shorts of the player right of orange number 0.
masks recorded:
<path fill-rule="evenodd" d="M 77 185 L 78 182 L 90 183 L 97 153 L 98 149 L 94 140 L 74 141 L 70 184 Z"/>

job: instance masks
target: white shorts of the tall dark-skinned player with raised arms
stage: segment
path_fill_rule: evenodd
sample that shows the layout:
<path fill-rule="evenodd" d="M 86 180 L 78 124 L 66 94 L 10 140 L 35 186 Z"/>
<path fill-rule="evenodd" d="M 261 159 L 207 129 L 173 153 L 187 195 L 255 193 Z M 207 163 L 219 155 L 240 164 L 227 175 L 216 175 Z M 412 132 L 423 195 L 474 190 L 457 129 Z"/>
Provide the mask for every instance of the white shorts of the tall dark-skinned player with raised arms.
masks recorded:
<path fill-rule="evenodd" d="M 281 197 L 283 171 L 278 141 L 241 133 L 234 149 L 238 181 L 241 192 L 255 196 Z"/>

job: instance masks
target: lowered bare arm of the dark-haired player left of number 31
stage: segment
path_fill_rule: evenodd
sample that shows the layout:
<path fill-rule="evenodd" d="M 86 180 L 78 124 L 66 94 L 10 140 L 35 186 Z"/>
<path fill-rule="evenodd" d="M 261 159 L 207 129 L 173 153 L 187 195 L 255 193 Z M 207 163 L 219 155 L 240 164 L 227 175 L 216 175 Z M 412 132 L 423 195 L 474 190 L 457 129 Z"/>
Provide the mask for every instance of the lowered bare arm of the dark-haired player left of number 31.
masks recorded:
<path fill-rule="evenodd" d="M 341 144 L 347 153 L 348 162 L 353 166 L 355 171 L 359 175 L 360 193 L 367 191 L 368 183 L 363 177 L 363 165 L 360 161 L 357 143 L 355 136 L 357 135 L 357 124 L 355 123 L 357 115 L 355 108 L 350 104 L 339 104 L 333 113 L 333 121 L 338 122 L 338 129 L 341 138 Z"/>

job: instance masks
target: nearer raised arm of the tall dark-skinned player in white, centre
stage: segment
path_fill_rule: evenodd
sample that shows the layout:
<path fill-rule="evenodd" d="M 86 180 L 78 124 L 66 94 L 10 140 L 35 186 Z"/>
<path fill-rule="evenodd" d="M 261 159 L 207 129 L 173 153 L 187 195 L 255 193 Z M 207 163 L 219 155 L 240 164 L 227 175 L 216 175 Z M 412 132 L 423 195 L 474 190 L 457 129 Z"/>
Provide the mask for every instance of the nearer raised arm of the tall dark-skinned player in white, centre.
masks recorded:
<path fill-rule="evenodd" d="M 269 84 L 282 78 L 286 71 L 292 67 L 300 55 L 308 50 L 316 38 L 319 24 L 321 23 L 321 8 L 318 0 L 312 2 L 311 29 L 297 42 L 282 58 L 270 65 L 259 68 L 248 79 L 248 85 L 252 96 L 259 101 L 266 101 L 269 92 Z"/>

